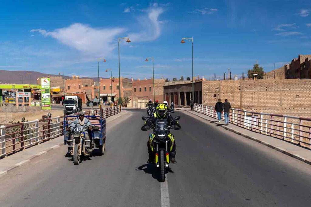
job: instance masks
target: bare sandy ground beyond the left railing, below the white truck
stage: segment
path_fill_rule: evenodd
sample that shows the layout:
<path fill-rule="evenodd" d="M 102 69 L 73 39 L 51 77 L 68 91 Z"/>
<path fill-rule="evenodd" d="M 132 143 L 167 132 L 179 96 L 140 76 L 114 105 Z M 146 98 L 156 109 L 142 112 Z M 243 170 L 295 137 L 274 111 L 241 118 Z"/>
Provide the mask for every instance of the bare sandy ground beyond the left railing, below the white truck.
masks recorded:
<path fill-rule="evenodd" d="M 42 119 L 42 116 L 46 115 L 49 112 L 52 114 L 52 117 L 62 116 L 64 113 L 62 109 L 44 110 L 38 112 L 18 112 L 18 113 L 0 112 L 0 125 L 18 121 L 21 122 L 22 117 L 25 117 L 25 119 L 28 121 L 32 121 L 35 119 Z"/>

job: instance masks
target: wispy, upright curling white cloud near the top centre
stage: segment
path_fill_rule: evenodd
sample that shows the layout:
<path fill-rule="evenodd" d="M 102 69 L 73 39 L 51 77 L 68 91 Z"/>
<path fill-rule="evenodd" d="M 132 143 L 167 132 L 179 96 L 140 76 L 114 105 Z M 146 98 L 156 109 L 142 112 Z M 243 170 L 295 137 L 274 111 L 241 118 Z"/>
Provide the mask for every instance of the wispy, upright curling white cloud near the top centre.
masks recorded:
<path fill-rule="evenodd" d="M 137 18 L 142 32 L 130 33 L 128 36 L 133 41 L 151 41 L 157 39 L 161 35 L 160 24 L 164 23 L 159 21 L 159 16 L 164 12 L 162 7 L 157 7 L 154 3 L 151 7 L 146 10 L 141 10 L 145 14 Z"/>

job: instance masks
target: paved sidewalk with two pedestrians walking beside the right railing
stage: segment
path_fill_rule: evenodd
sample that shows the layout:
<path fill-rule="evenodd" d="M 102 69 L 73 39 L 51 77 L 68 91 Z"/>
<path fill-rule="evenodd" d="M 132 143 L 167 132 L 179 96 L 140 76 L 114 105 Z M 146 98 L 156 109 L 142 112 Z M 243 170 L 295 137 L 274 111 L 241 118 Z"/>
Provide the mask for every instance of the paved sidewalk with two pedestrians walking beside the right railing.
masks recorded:
<path fill-rule="evenodd" d="M 206 116 L 201 113 L 197 113 L 194 111 L 190 111 L 189 109 L 179 109 L 184 111 L 184 113 L 191 113 L 198 117 L 201 117 L 215 125 L 220 125 L 221 127 L 225 128 L 226 130 L 232 131 L 238 135 L 244 136 L 248 139 L 253 141 L 257 141 L 262 145 L 266 145 L 274 150 L 277 150 L 283 154 L 286 154 L 290 157 L 303 161 L 311 165 L 311 150 L 305 149 L 303 147 L 291 144 L 281 139 L 277 139 L 271 136 L 263 135 L 257 132 L 253 132 L 242 127 L 238 127 L 234 124 L 229 123 L 228 126 L 225 126 L 225 122 L 221 121 L 220 124 L 218 123 L 218 119 L 214 119 L 212 117 Z M 216 122 L 217 121 L 217 122 Z"/>

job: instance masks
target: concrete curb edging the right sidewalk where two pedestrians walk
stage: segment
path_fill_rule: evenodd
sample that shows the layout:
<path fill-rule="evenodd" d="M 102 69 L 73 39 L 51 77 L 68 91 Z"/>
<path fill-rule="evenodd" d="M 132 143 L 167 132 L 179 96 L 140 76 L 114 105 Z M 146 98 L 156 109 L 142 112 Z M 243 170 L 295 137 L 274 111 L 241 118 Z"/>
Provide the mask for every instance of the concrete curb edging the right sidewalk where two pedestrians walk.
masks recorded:
<path fill-rule="evenodd" d="M 183 111 L 186 111 L 186 110 L 183 110 Z M 202 118 L 202 119 L 204 119 L 204 120 L 207 120 L 207 121 L 215 121 L 215 120 L 211 120 L 211 119 L 208 119 L 208 118 L 205 118 L 205 117 L 201 117 L 201 116 L 199 116 L 199 115 L 197 115 L 197 114 L 195 114 L 195 113 L 192 113 L 191 111 L 188 111 L 188 112 L 191 113 L 191 114 L 193 114 L 193 115 L 196 115 L 197 117 L 200 117 L 200 118 Z M 247 138 L 247 139 L 256 141 L 256 142 L 258 142 L 258 143 L 260 143 L 260 144 L 262 144 L 262 145 L 265 145 L 265 146 L 267 146 L 267 147 L 270 147 L 270 148 L 273 149 L 273 150 L 279 151 L 279 152 L 281 152 L 281 153 L 283 153 L 283 154 L 286 154 L 286 155 L 288 155 L 288 156 L 290 156 L 290 157 L 292 157 L 292 158 L 298 159 L 298 160 L 300 160 L 300 161 L 302 161 L 302 162 L 304 162 L 304 163 L 307 163 L 307 164 L 311 165 L 311 160 L 307 160 L 306 158 L 302 157 L 302 156 L 299 155 L 299 154 L 294 154 L 293 152 L 290 152 L 290 151 L 288 151 L 288 150 L 285 150 L 285 149 L 283 149 L 283 148 L 281 148 L 281 147 L 273 146 L 273 145 L 271 145 L 271 144 L 268 143 L 268 142 L 258 140 L 258 139 L 255 138 L 255 137 L 252 137 L 252 136 L 249 136 L 249 135 L 244 134 L 244 133 L 242 133 L 242 132 L 239 132 L 239 131 L 237 131 L 237 130 L 234 130 L 234 129 L 228 127 L 228 126 L 220 125 L 220 127 L 224 128 L 224 129 L 226 129 L 226 130 L 228 130 L 228 131 L 234 132 L 235 134 L 244 136 L 244 137 Z"/>

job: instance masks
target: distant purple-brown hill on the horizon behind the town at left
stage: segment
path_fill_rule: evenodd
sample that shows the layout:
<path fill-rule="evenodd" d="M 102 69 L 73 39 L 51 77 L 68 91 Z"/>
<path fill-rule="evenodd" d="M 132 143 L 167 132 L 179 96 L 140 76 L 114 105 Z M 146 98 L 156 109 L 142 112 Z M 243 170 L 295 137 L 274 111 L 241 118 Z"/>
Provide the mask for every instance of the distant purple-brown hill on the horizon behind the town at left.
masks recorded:
<path fill-rule="evenodd" d="M 78 74 L 77 74 L 78 75 Z M 15 83 L 15 84 L 37 84 L 37 79 L 41 77 L 58 76 L 56 74 L 40 73 L 36 71 L 5 71 L 0 70 L 0 84 Z M 71 76 L 64 76 L 66 79 L 71 79 Z M 98 81 L 98 77 L 80 77 L 89 78 Z M 103 77 L 102 77 L 103 78 Z M 105 78 L 103 78 L 105 79 Z"/>

